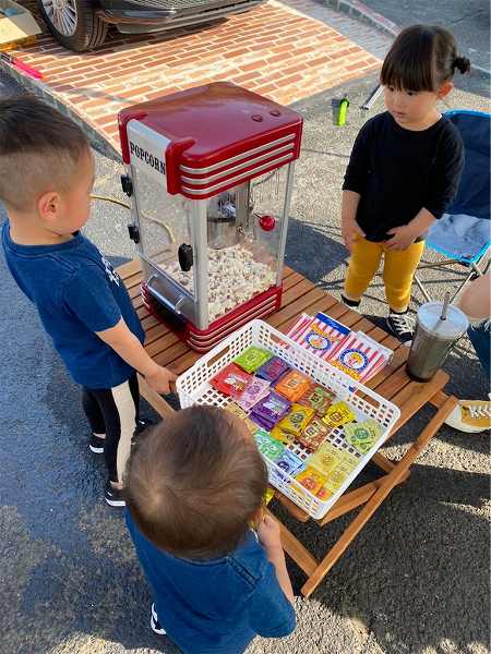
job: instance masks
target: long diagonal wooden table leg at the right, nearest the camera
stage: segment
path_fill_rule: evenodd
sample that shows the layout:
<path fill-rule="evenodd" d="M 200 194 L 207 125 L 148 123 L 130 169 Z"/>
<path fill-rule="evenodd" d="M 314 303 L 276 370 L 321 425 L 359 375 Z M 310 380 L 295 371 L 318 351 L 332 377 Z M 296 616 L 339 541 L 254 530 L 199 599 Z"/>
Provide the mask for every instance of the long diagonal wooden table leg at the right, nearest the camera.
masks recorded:
<path fill-rule="evenodd" d="M 457 400 L 451 396 L 441 405 L 439 411 L 434 414 L 432 420 L 428 423 L 424 429 L 421 432 L 415 444 L 409 448 L 406 455 L 395 465 L 385 479 L 384 483 L 380 488 L 372 495 L 369 501 L 364 505 L 358 516 L 352 520 L 349 526 L 345 530 L 337 543 L 331 548 L 327 555 L 320 562 L 313 574 L 307 580 L 301 588 L 301 593 L 304 597 L 309 597 L 313 591 L 318 588 L 319 583 L 324 579 L 337 559 L 343 555 L 345 549 L 355 538 L 355 536 L 363 529 L 380 505 L 384 501 L 391 491 L 396 486 L 403 476 L 407 473 L 409 468 L 415 462 L 418 455 L 428 445 L 428 443 L 436 434 L 446 416 L 456 405 Z"/>

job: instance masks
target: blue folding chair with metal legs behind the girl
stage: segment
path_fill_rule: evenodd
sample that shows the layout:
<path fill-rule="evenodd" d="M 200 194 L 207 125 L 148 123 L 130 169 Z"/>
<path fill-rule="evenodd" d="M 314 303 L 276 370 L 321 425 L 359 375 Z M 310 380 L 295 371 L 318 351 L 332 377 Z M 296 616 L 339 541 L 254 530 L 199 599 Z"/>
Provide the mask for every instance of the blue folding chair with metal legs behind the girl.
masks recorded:
<path fill-rule="evenodd" d="M 428 232 L 426 245 L 446 257 L 436 263 L 420 264 L 423 268 L 443 268 L 463 264 L 467 275 L 452 301 L 469 279 L 482 275 L 490 265 L 490 124 L 491 116 L 481 111 L 447 111 L 445 117 L 460 132 L 465 148 L 464 171 L 457 195 L 448 211 L 436 220 Z M 486 263 L 487 262 L 487 263 Z M 424 299 L 431 298 L 423 282 L 415 275 Z"/>

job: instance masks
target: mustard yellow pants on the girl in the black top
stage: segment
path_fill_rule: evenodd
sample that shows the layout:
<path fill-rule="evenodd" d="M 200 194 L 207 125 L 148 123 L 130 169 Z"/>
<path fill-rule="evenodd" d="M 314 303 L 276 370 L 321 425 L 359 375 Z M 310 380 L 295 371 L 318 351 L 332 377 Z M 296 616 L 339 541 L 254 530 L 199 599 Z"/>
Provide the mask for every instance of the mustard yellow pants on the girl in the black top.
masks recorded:
<path fill-rule="evenodd" d="M 355 241 L 344 294 L 358 301 L 367 290 L 384 257 L 383 280 L 388 306 L 403 312 L 409 305 L 412 278 L 424 250 L 424 242 L 412 243 L 406 250 L 387 250 L 384 243 L 372 243 L 359 237 Z"/>

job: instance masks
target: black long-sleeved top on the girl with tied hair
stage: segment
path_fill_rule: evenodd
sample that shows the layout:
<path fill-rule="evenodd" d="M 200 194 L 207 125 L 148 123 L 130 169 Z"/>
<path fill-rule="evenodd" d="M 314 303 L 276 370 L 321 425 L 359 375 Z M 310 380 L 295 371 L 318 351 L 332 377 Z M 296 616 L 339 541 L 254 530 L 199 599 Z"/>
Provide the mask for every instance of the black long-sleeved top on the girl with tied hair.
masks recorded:
<path fill-rule="evenodd" d="M 343 190 L 361 195 L 357 222 L 367 239 L 384 241 L 387 230 L 407 225 L 423 207 L 441 218 L 463 168 L 464 144 L 450 120 L 412 132 L 385 111 L 360 130 Z"/>

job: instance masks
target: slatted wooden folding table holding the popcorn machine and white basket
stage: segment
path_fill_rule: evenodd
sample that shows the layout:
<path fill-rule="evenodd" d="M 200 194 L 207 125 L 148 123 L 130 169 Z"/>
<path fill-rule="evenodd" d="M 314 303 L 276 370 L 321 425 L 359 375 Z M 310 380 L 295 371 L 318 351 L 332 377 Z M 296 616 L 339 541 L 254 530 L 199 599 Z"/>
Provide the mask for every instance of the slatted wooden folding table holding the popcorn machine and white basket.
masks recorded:
<path fill-rule="evenodd" d="M 130 292 L 134 307 L 145 329 L 146 351 L 158 364 L 167 366 L 177 375 L 182 374 L 193 365 L 200 354 L 190 350 L 166 325 L 149 315 L 143 306 L 140 294 L 140 282 L 142 280 L 140 262 L 133 261 L 124 264 L 118 268 L 118 272 Z M 381 452 L 375 453 L 372 462 L 384 474 L 374 482 L 364 484 L 354 491 L 348 489 L 324 518 L 316 520 L 319 529 L 322 529 L 332 520 L 358 507 L 362 507 L 322 560 L 314 558 L 307 547 L 280 523 L 282 542 L 285 550 L 308 577 L 307 582 L 301 589 L 301 593 L 306 597 L 315 590 L 391 491 L 407 480 L 409 469 L 415 459 L 436 434 L 456 404 L 456 399 L 445 395 L 443 391 L 448 380 L 446 373 L 439 371 L 433 379 L 426 384 L 411 382 L 405 370 L 408 354 L 406 347 L 402 346 L 398 340 L 387 335 L 383 329 L 375 327 L 359 313 L 340 304 L 332 295 L 315 287 L 300 274 L 295 272 L 290 268 L 285 268 L 282 307 L 270 316 L 267 322 L 280 331 L 287 332 L 300 313 L 306 312 L 312 315 L 320 311 L 342 320 L 352 329 L 364 331 L 372 339 L 394 350 L 392 363 L 367 384 L 367 386 L 376 390 L 379 395 L 391 400 L 400 409 L 400 419 L 394 426 L 391 437 L 424 405 L 432 404 L 436 408 L 436 412 L 399 461 L 393 462 Z M 164 398 L 148 388 L 144 379 L 141 378 L 140 384 L 142 396 L 161 416 L 172 412 L 171 407 Z M 275 498 L 297 520 L 301 522 L 311 520 L 310 516 L 278 491 L 275 491 Z"/>

